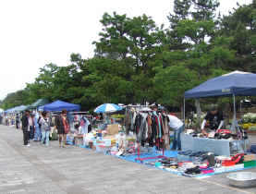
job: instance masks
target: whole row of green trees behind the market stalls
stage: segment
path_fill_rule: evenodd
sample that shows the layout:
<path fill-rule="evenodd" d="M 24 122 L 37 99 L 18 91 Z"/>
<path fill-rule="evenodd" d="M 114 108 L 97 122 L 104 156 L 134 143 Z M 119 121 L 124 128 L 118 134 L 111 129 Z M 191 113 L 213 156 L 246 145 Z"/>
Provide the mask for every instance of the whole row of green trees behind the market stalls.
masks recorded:
<path fill-rule="evenodd" d="M 216 18 L 217 0 L 175 0 L 164 30 L 151 17 L 104 13 L 94 57 L 70 55 L 70 64 L 47 64 L 28 89 L 7 95 L 1 107 L 40 98 L 79 103 L 158 102 L 183 109 L 185 91 L 233 70 L 256 72 L 256 1 Z M 86 46 L 86 45 L 85 45 Z M 201 100 L 202 108 L 215 99 Z M 197 104 L 199 104 L 199 100 Z M 229 99 L 218 100 L 226 106 Z"/>

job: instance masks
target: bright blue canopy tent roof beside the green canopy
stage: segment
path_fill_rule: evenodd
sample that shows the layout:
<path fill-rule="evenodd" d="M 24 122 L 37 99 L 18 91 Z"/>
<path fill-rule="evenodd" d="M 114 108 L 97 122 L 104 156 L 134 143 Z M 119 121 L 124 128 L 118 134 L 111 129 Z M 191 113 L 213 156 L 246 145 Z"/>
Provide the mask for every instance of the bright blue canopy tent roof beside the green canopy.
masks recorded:
<path fill-rule="evenodd" d="M 62 109 L 67 109 L 67 111 L 79 111 L 80 105 L 75 103 L 66 103 L 62 101 L 55 101 L 54 103 L 48 103 L 44 105 L 44 111 L 62 111 Z"/>

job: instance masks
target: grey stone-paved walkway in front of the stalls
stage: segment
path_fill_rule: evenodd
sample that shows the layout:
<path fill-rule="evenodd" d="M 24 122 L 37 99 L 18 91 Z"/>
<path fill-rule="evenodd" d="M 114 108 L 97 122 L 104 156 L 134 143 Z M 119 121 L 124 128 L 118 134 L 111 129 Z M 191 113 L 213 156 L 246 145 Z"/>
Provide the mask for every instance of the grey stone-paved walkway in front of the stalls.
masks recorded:
<path fill-rule="evenodd" d="M 0 125 L 0 193 L 256 193 L 232 188 L 225 174 L 178 176 L 74 145 L 22 145 L 22 131 Z M 256 136 L 250 136 L 250 142 Z M 256 168 L 245 171 L 256 173 Z"/>

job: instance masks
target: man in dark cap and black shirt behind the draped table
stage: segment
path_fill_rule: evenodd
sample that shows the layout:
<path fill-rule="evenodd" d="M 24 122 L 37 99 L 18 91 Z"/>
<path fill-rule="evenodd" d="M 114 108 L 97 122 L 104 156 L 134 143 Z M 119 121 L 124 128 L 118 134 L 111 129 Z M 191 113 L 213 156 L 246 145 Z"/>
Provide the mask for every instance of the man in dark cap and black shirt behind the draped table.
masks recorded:
<path fill-rule="evenodd" d="M 214 132 L 215 130 L 220 129 L 224 123 L 224 116 L 220 111 L 217 111 L 217 105 L 214 103 L 210 105 L 210 112 L 207 115 L 205 115 L 201 123 L 202 133 L 206 132 L 204 130 L 204 127 L 207 120 L 210 120 L 210 132 Z"/>

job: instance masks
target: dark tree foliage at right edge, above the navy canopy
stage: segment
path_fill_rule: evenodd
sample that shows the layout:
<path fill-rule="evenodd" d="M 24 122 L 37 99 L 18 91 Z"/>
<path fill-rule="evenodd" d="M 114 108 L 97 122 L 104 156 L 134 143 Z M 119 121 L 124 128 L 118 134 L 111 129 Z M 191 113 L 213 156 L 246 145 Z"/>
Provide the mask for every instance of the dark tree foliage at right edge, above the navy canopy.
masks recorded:
<path fill-rule="evenodd" d="M 232 63 L 223 67 L 226 70 L 241 70 L 256 72 L 255 54 L 255 1 L 250 5 L 238 5 L 221 20 L 220 35 L 232 37 L 228 49 L 236 50 L 237 54 Z"/>

